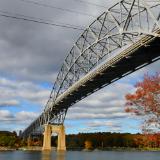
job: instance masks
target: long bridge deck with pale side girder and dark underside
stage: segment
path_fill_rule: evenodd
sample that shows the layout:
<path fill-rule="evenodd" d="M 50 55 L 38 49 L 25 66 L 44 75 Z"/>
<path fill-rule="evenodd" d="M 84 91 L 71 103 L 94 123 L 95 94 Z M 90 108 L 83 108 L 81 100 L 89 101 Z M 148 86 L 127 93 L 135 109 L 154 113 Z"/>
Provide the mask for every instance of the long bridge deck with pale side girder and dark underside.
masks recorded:
<path fill-rule="evenodd" d="M 160 35 L 160 30 L 156 31 Z M 91 93 L 115 82 L 116 80 L 160 59 L 160 37 L 145 36 L 138 42 L 128 47 L 113 59 L 89 72 L 68 90 L 60 95 L 51 109 L 42 113 L 29 128 L 25 135 L 34 132 L 36 128 L 48 120 L 67 110 L 73 104 L 90 95 Z M 54 114 L 49 114 L 53 112 Z M 45 115 L 44 115 L 45 114 Z M 51 116 L 52 115 L 52 116 Z"/>

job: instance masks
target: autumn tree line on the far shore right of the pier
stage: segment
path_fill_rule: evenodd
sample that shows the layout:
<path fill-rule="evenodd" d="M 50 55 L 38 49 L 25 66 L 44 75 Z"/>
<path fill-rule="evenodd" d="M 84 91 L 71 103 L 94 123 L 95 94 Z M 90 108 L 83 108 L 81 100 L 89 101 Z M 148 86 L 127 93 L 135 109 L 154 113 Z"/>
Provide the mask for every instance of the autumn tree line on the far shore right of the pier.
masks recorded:
<path fill-rule="evenodd" d="M 79 133 L 68 135 L 66 140 L 71 149 L 160 148 L 160 134 Z"/>

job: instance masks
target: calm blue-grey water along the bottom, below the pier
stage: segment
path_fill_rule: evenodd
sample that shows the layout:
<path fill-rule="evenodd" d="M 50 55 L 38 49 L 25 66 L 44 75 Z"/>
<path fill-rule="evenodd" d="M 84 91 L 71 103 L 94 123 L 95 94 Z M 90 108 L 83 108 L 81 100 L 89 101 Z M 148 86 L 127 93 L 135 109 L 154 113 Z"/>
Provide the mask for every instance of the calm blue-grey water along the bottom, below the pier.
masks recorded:
<path fill-rule="evenodd" d="M 117 151 L 5 151 L 0 160 L 160 160 L 160 152 L 117 152 Z"/>

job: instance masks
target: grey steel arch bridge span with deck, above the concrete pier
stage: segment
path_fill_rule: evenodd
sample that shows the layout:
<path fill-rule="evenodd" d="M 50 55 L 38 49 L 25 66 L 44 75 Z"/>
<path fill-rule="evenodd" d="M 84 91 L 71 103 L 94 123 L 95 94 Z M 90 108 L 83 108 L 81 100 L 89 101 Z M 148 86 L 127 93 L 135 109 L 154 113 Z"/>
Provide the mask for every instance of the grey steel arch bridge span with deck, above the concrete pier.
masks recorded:
<path fill-rule="evenodd" d="M 44 112 L 22 133 L 63 124 L 69 107 L 160 59 L 160 0 L 120 0 L 81 34 L 58 73 Z"/>

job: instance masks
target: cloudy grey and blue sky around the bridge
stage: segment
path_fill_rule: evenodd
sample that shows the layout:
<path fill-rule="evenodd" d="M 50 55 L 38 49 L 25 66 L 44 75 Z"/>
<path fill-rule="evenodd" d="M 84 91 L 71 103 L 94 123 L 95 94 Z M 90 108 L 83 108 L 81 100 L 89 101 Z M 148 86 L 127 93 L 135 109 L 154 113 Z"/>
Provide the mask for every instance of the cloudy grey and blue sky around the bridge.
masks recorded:
<path fill-rule="evenodd" d="M 117 1 L 0 0 L 0 15 L 25 15 L 85 28 Z M 0 130 L 18 132 L 40 115 L 81 32 L 0 16 Z M 66 133 L 141 132 L 143 119 L 125 113 L 124 96 L 134 92 L 145 73 L 158 72 L 159 66 L 160 61 L 148 65 L 73 105 L 66 116 Z"/>

